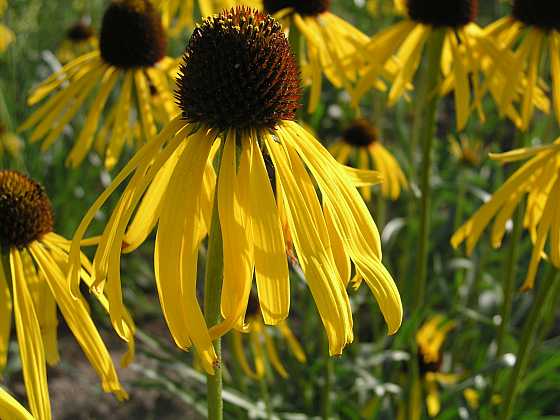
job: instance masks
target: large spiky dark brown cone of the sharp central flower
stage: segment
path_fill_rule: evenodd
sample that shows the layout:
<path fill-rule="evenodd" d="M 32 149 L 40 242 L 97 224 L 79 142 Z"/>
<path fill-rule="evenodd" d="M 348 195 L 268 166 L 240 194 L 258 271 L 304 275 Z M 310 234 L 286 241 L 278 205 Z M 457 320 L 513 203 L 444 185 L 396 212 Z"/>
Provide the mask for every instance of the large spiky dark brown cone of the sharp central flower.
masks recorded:
<path fill-rule="evenodd" d="M 183 118 L 219 130 L 274 128 L 295 118 L 301 97 L 282 27 L 245 7 L 208 17 L 194 30 L 177 86 Z"/>

